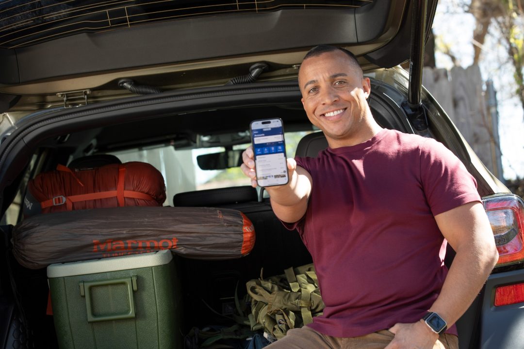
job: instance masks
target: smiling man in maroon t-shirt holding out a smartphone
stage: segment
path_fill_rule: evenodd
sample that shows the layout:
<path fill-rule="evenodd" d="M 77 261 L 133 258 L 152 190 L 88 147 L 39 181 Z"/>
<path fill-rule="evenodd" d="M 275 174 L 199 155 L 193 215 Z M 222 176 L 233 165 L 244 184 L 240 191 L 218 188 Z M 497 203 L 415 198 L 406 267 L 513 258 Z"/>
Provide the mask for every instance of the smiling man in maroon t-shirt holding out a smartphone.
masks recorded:
<path fill-rule="evenodd" d="M 266 190 L 308 247 L 326 308 L 271 345 L 457 348 L 453 324 L 498 258 L 474 178 L 441 143 L 376 123 L 351 52 L 313 48 L 299 85 L 329 148 L 288 159 L 289 183 Z M 243 160 L 256 186 L 252 148 Z M 449 272 L 446 240 L 456 251 Z"/>

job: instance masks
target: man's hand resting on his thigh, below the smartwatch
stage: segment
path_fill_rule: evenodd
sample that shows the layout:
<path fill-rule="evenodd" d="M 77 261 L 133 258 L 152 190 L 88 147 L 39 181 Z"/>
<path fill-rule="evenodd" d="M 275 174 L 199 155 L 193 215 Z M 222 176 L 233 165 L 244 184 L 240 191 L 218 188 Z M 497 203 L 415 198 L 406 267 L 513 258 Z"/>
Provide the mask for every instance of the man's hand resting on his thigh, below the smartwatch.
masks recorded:
<path fill-rule="evenodd" d="M 439 334 L 431 331 L 422 320 L 414 323 L 397 323 L 389 329 L 395 338 L 385 349 L 433 349 Z"/>

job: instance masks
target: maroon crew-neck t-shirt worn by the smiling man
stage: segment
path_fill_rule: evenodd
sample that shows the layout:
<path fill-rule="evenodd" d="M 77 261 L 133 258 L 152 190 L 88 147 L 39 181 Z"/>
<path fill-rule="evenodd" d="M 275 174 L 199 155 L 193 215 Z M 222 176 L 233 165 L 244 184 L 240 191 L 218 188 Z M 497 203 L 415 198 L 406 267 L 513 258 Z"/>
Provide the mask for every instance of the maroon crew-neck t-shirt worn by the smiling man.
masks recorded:
<path fill-rule="evenodd" d="M 481 200 L 462 162 L 394 130 L 296 160 L 313 186 L 305 216 L 286 226 L 311 253 L 326 306 L 310 326 L 353 337 L 420 320 L 447 274 L 433 216 Z"/>

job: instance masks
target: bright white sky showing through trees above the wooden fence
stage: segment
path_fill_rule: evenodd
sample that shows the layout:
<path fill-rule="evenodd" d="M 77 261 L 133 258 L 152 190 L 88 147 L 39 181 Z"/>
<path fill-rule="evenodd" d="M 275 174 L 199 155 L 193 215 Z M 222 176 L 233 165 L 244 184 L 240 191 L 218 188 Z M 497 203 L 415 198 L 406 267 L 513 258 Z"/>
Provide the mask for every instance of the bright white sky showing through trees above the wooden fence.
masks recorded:
<path fill-rule="evenodd" d="M 464 68 L 473 63 L 473 28 L 475 19 L 465 14 L 457 4 L 461 0 L 439 0 L 433 21 L 436 40 L 442 40 L 459 59 Z M 457 35 L 460 33 L 460 35 Z M 487 37 L 479 67 L 484 81 L 493 80 L 497 91 L 499 114 L 500 148 L 503 153 L 502 165 L 506 179 L 524 178 L 524 113 L 519 99 L 512 97 L 515 86 L 510 65 L 501 65 L 507 60 L 504 47 Z M 451 59 L 435 52 L 436 67 L 451 69 Z"/>

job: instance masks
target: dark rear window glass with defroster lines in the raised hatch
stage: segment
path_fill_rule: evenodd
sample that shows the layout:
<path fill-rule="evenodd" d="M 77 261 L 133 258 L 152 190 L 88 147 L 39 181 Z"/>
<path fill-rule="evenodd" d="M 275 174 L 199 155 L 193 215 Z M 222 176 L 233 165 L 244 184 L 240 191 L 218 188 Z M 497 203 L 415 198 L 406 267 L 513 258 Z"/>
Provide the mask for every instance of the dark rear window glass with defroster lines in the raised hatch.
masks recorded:
<path fill-rule="evenodd" d="M 101 32 L 195 16 L 265 13 L 285 8 L 360 7 L 372 0 L 0 0 L 0 47 L 29 46 L 80 32 Z"/>

